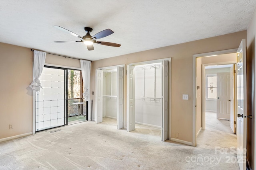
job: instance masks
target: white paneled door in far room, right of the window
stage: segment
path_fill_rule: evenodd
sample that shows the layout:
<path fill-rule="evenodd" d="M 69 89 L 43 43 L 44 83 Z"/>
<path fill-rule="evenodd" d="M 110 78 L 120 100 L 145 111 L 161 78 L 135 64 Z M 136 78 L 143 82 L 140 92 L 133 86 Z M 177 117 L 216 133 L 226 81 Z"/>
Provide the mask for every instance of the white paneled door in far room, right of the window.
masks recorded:
<path fill-rule="evenodd" d="M 230 119 L 230 73 L 217 73 L 217 118 Z"/>

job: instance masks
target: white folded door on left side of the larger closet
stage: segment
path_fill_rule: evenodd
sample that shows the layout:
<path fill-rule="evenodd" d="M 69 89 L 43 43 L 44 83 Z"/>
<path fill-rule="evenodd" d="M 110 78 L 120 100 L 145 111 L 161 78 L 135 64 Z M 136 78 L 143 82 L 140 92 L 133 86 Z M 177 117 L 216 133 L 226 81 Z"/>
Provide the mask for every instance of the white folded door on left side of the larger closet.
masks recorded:
<path fill-rule="evenodd" d="M 127 65 L 127 131 L 135 130 L 135 75 L 134 66 Z"/>

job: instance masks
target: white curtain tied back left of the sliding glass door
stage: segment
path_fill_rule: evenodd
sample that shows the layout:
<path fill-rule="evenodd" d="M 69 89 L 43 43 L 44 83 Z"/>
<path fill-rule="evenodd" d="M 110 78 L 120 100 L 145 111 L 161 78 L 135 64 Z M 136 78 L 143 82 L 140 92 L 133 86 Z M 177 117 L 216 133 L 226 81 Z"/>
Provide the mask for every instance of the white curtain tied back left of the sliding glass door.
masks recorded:
<path fill-rule="evenodd" d="M 29 85 L 34 92 L 39 92 L 42 88 L 39 77 L 44 68 L 45 57 L 45 52 L 34 50 L 33 81 Z"/>

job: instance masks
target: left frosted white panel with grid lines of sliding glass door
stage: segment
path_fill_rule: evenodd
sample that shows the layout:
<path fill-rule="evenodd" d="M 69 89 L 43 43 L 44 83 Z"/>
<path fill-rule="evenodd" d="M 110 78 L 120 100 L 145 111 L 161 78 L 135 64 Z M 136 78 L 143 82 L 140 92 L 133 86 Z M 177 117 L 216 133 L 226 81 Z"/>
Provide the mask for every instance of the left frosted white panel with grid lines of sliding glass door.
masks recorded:
<path fill-rule="evenodd" d="M 36 131 L 65 125 L 65 69 L 44 67 L 35 94 Z"/>

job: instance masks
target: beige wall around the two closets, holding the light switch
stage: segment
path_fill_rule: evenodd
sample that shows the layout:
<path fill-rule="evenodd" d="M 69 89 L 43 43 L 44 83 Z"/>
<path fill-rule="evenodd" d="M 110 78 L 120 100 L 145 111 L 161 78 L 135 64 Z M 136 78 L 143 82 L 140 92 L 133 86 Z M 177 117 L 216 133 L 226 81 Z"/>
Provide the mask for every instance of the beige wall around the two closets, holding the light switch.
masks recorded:
<path fill-rule="evenodd" d="M 201 39 L 178 45 L 171 45 L 158 49 L 142 51 L 102 59 L 92 62 L 90 93 L 95 92 L 95 69 L 105 66 L 136 63 L 141 61 L 150 61 L 155 59 L 172 58 L 172 73 L 171 81 L 171 137 L 175 138 L 175 133 L 179 133 L 178 139 L 192 142 L 192 72 L 193 72 L 193 55 L 200 53 L 208 53 L 212 51 L 220 51 L 226 49 L 238 48 L 242 39 L 246 38 L 246 31 L 231 33 L 208 39 Z M 122 48 L 122 46 L 120 47 Z M 113 49 L 114 50 L 114 49 Z M 125 92 L 125 115 L 126 116 L 126 78 L 124 77 L 124 92 Z M 169 87 L 170 88 L 170 87 Z M 189 100 L 182 100 L 182 94 L 188 94 Z M 95 95 L 92 95 L 93 102 Z M 95 102 L 94 102 L 95 103 Z M 94 108 L 94 106 L 93 106 Z M 95 109 L 93 109 L 94 112 Z M 169 112 L 170 113 L 170 112 Z M 94 117 L 95 113 L 93 113 Z M 170 116 L 170 115 L 169 115 Z M 170 126 L 169 126 L 170 127 Z"/>

